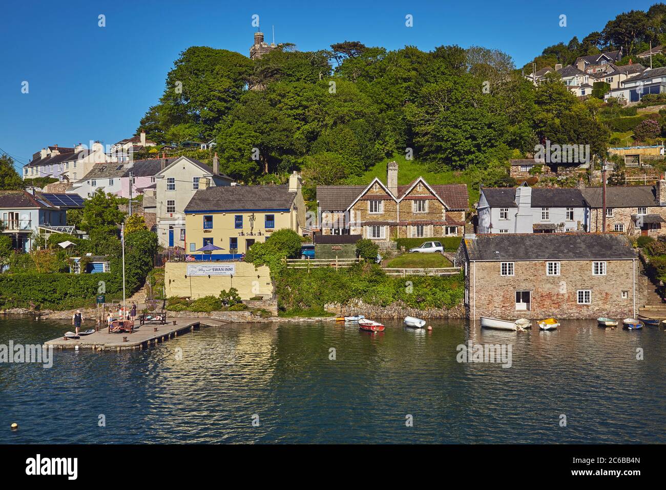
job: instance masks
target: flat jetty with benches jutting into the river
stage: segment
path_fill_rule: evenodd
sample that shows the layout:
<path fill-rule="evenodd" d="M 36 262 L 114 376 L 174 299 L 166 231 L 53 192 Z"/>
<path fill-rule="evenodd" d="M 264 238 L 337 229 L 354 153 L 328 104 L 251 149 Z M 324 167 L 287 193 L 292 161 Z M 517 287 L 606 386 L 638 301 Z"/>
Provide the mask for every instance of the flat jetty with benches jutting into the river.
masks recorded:
<path fill-rule="evenodd" d="M 148 349 L 151 345 L 166 342 L 174 339 L 183 333 L 198 330 L 201 325 L 206 327 L 218 327 L 227 323 L 209 318 L 178 318 L 176 324 L 170 321 L 166 325 L 151 325 L 145 323 L 138 325 L 133 333 L 109 333 L 107 325 L 103 325 L 99 331 L 90 335 L 82 335 L 79 339 L 66 339 L 59 337 L 57 339 L 45 342 L 45 345 L 53 345 L 59 349 L 93 349 L 94 351 L 118 351 L 123 349 L 142 350 Z M 82 330 L 85 329 L 85 326 Z"/>

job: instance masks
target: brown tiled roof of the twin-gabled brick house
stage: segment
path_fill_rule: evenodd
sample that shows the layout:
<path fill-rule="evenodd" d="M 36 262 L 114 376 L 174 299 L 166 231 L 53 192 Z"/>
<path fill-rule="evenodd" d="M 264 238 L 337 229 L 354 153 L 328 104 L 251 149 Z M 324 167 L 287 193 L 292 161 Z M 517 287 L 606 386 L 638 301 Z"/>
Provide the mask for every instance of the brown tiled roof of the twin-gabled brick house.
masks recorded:
<path fill-rule="evenodd" d="M 418 179 L 416 179 L 418 180 Z M 416 180 L 398 185 L 398 199 L 403 197 Z M 428 184 L 430 185 L 430 184 Z M 344 211 L 362 193 L 367 185 L 318 185 L 317 201 L 323 211 Z M 430 185 L 450 209 L 469 209 L 469 195 L 465 184 Z"/>

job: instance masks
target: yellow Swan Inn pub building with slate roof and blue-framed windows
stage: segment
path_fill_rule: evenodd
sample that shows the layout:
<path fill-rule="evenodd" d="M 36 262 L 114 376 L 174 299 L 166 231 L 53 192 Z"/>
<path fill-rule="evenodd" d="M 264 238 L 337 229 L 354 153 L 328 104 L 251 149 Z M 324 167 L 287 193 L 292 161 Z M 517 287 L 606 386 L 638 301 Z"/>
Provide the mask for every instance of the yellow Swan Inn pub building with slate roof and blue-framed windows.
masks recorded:
<path fill-rule="evenodd" d="M 305 202 L 300 175 L 286 185 L 228 185 L 194 193 L 185 207 L 186 253 L 200 260 L 239 259 L 256 241 L 273 231 L 305 227 Z M 204 245 L 220 247 L 210 255 Z"/>

